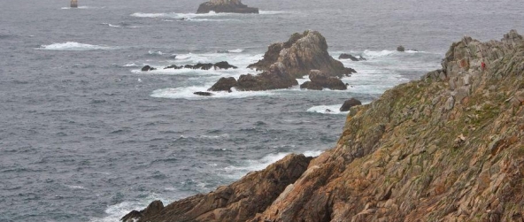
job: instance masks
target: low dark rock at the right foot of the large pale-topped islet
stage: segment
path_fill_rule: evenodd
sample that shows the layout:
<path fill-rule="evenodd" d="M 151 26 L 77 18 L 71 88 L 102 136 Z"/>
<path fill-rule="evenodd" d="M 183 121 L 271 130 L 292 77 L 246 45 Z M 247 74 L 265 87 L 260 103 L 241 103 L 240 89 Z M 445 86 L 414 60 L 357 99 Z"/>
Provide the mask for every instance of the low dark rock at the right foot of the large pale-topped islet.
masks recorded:
<path fill-rule="evenodd" d="M 307 88 L 312 90 L 322 90 L 323 88 L 329 88 L 332 90 L 346 90 L 348 87 L 343 83 L 342 80 L 328 76 L 326 73 L 320 72 L 320 70 L 312 70 L 309 73 L 309 79 L 300 88 Z"/>

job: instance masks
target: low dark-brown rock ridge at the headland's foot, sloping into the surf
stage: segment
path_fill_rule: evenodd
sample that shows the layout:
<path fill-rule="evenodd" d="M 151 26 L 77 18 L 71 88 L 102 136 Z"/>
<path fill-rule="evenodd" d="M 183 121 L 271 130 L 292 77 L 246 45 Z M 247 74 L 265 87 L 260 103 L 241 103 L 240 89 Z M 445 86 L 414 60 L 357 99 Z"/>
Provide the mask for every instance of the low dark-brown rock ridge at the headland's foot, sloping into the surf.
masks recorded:
<path fill-rule="evenodd" d="M 155 201 L 144 211 L 132 211 L 124 222 L 243 222 L 266 210 L 305 171 L 312 157 L 289 155 L 260 172 L 251 172 L 229 186 L 160 207 Z M 151 207 L 153 205 L 153 207 Z M 154 210 L 151 210 L 154 209 Z"/>

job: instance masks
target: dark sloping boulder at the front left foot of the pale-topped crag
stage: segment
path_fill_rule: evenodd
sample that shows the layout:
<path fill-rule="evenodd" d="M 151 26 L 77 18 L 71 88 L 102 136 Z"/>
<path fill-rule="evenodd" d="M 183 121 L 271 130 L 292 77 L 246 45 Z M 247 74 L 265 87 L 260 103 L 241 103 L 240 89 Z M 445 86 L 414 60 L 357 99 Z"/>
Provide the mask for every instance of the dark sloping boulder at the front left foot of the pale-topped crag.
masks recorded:
<path fill-rule="evenodd" d="M 281 63 L 271 65 L 269 70 L 258 75 L 241 75 L 236 88 L 243 91 L 261 91 L 277 88 L 290 88 L 298 85 L 297 79 L 289 75 Z"/>

